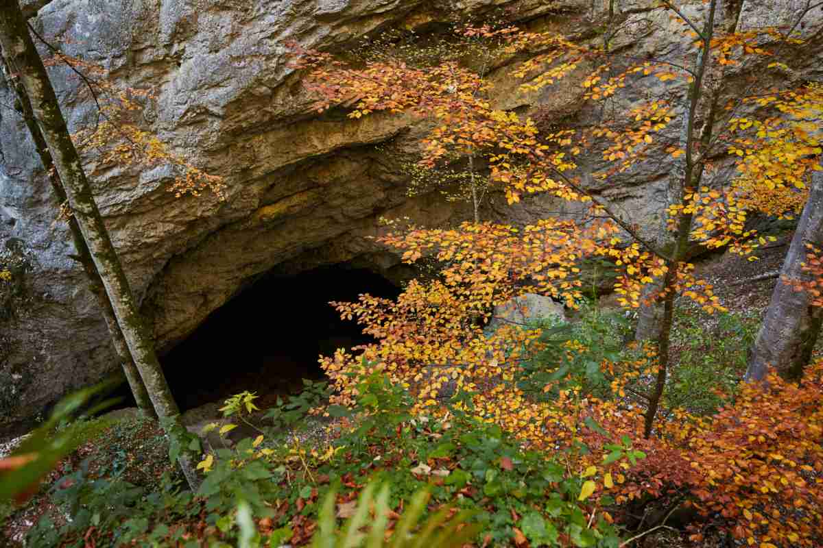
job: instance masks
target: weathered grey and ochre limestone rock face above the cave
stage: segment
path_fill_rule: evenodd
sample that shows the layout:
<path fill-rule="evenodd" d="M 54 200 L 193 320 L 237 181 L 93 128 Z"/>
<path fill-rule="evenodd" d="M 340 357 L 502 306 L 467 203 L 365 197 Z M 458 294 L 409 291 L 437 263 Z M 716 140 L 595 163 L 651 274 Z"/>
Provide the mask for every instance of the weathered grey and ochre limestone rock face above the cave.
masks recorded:
<path fill-rule="evenodd" d="M 95 159 L 86 165 L 160 349 L 170 348 L 272 269 L 297 273 L 354 260 L 388 272 L 398 258 L 368 238 L 381 230 L 380 216 L 430 225 L 467 218 L 463 206 L 439 196 L 407 197 L 402 162 L 414 159 L 420 131 L 412 121 L 383 115 L 358 121 L 317 117 L 299 76 L 287 66 L 287 41 L 307 48 L 347 48 L 392 25 L 425 31 L 421 25 L 498 9 L 529 25 L 596 40 L 608 7 L 608 2 L 584 0 L 24 3 L 37 14 L 32 23 L 44 39 L 105 67 L 118 85 L 153 90 L 142 113 L 146 128 L 174 153 L 226 179 L 225 201 L 209 194 L 178 199 L 168 191 L 165 168 L 128 168 Z M 802 3 L 745 0 L 744 11 L 760 22 L 783 24 Z M 688 40 L 662 10 L 651 7 L 653 2 L 618 4 L 627 31 L 613 48 L 672 59 L 687 52 Z M 700 16 L 704 7 L 695 2 L 684 10 Z M 815 17 L 820 19 L 820 13 L 810 15 L 809 28 Z M 820 76 L 821 66 L 820 58 L 807 56 L 793 69 Z M 65 67 L 53 67 L 51 74 L 70 126 L 94 123 L 94 104 L 82 82 Z M 580 123 L 597 116 L 581 109 L 582 88 L 574 77 L 538 94 L 519 93 L 506 67 L 490 78 L 501 108 L 542 106 L 558 119 L 573 117 Z M 649 78 L 648 85 L 661 84 Z M 619 106 L 640 99 L 623 98 Z M 0 287 L 0 435 L 19 430 L 60 394 L 119 367 L 81 269 L 70 258 L 71 238 L 57 220 L 34 145 L 20 117 L 7 108 L 13 103 L 0 79 L 0 266 L 15 274 L 13 283 Z M 671 161 L 649 159 L 602 192 L 654 232 L 662 222 L 655 214 L 666 197 Z M 597 154 L 581 159 L 589 170 L 599 162 Z M 576 212 L 546 198 L 512 209 L 502 205 L 493 198 L 491 219 L 528 222 L 558 210 Z"/>

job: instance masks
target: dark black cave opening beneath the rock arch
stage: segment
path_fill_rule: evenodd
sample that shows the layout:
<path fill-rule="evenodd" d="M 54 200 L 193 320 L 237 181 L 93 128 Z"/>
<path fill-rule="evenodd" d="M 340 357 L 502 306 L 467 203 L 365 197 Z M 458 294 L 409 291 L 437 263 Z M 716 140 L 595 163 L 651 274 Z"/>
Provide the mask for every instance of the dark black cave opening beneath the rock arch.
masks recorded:
<path fill-rule="evenodd" d="M 374 342 L 328 304 L 365 292 L 397 297 L 400 288 L 348 265 L 258 279 L 160 359 L 180 409 L 244 390 L 258 394 L 258 407 L 271 407 L 277 396 L 299 392 L 303 379 L 323 379 L 319 354 Z"/>

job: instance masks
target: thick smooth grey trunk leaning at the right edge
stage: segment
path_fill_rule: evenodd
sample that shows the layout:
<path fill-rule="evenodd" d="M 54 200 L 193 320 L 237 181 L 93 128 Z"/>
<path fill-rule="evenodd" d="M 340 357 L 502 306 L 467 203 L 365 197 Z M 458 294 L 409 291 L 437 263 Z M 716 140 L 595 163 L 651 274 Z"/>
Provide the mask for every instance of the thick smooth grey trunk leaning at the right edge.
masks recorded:
<path fill-rule="evenodd" d="M 819 306 L 811 306 L 813 297 L 809 292 L 795 291 L 785 281 L 811 279 L 801 266 L 806 260 L 807 244 L 823 247 L 823 172 L 819 171 L 811 177 L 809 199 L 803 207 L 765 319 L 749 353 L 746 380 L 763 380 L 769 366 L 774 366 L 786 378 L 799 379 L 811 358 L 823 311 Z"/>

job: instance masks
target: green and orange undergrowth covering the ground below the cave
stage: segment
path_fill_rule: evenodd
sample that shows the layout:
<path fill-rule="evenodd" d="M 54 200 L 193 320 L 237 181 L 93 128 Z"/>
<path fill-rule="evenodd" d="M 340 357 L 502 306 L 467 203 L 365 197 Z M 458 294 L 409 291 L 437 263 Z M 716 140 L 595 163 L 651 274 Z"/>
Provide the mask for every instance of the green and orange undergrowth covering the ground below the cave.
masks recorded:
<path fill-rule="evenodd" d="M 328 387 L 314 382 L 266 413 L 256 394 L 229 398 L 224 415 L 255 432 L 237 443 L 233 425 L 207 426 L 220 441 L 202 446 L 168 444 L 145 419 L 91 421 L 91 442 L 35 499 L 49 511 L 27 546 L 454 546 L 430 523 L 474 546 L 616 548 L 661 532 L 820 546 L 823 363 L 801 386 L 738 385 L 753 320 L 677 321 L 680 359 L 648 440 L 637 394 L 653 349 L 625 343 L 625 316 L 589 308 L 573 324 L 528 325 L 542 334 L 514 355 L 530 359 L 431 413 L 364 362 L 349 373 L 353 408 L 320 408 Z M 328 438 L 306 441 L 318 412 L 333 420 Z M 196 494 L 172 472 L 180 451 L 199 453 Z M 370 527 L 353 537 L 351 520 Z"/>

